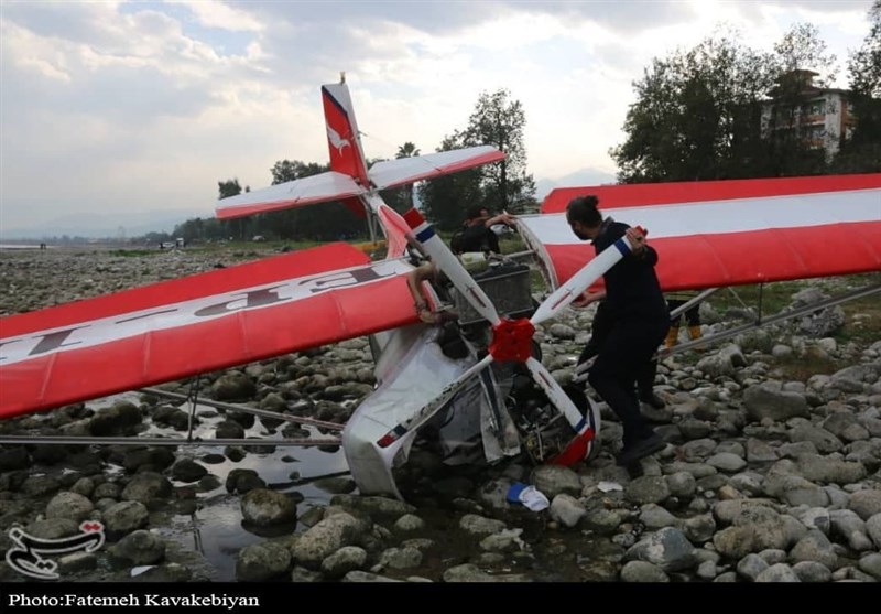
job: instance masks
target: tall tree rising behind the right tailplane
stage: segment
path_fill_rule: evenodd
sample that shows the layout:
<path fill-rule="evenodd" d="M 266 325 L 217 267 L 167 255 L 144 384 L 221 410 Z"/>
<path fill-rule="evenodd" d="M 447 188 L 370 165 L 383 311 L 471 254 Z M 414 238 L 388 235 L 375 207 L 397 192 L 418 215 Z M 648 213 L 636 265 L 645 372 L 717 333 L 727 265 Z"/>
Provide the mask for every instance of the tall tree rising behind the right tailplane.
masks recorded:
<path fill-rule="evenodd" d="M 526 148 L 523 129 L 526 114 L 520 100 L 499 89 L 482 93 L 464 132 L 466 146 L 494 146 L 505 153 L 504 160 L 481 168 L 481 187 L 488 208 L 511 213 L 535 211 L 535 182 L 526 173 Z"/>

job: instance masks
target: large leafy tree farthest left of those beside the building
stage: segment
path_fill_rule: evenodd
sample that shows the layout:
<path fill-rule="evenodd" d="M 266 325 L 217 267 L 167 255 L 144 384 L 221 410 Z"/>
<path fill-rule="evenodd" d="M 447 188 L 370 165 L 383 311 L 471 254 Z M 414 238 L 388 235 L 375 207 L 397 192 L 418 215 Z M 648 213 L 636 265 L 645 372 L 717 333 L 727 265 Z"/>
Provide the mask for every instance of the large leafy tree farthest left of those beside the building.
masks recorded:
<path fill-rule="evenodd" d="M 627 140 L 610 155 L 624 183 L 739 176 L 760 138 L 761 101 L 773 85 L 768 55 L 720 32 L 654 58 L 634 83 Z"/>

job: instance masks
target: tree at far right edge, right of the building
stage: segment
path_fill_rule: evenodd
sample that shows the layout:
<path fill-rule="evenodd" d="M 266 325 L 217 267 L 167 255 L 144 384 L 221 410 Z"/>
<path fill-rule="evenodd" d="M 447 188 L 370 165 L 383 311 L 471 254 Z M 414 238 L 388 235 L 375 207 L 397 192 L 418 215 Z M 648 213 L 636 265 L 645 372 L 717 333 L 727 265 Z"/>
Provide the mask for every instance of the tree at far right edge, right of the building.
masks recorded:
<path fill-rule="evenodd" d="M 870 30 L 848 57 L 850 101 L 856 126 L 835 161 L 837 172 L 881 171 L 881 0 L 869 10 Z"/>

